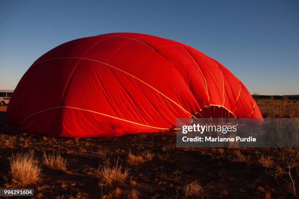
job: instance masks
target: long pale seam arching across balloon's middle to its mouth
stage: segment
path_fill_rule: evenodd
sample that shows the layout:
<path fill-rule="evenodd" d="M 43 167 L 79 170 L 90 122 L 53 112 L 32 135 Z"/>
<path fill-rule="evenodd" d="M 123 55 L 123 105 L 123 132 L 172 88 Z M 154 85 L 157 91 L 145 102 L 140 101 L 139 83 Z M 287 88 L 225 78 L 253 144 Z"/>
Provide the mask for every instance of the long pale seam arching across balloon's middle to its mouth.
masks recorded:
<path fill-rule="evenodd" d="M 145 82 L 145 81 L 143 81 L 143 80 L 141 80 L 141 79 L 139 79 L 139 78 L 137 78 L 137 77 L 135 77 L 135 76 L 129 74 L 129 73 L 126 72 L 126 71 L 123 71 L 123 70 L 121 70 L 121 69 L 119 69 L 119 68 L 117 68 L 117 67 L 115 67 L 115 66 L 112 66 L 112 65 L 107 64 L 107 63 L 102 62 L 102 61 L 92 60 L 92 59 L 88 59 L 88 58 L 79 58 L 79 57 L 62 57 L 62 58 L 53 58 L 53 59 L 49 59 L 49 60 L 43 60 L 43 61 L 40 61 L 40 62 L 35 63 L 35 64 L 39 64 L 39 63 L 42 63 L 42 62 L 45 62 L 45 61 L 50 61 L 50 60 L 58 60 L 58 59 L 83 59 L 83 60 L 90 60 L 90 61 L 96 61 L 96 62 L 99 62 L 99 63 L 103 63 L 103 64 L 105 64 L 105 65 L 107 65 L 107 66 L 109 66 L 109 67 L 112 67 L 112 68 L 114 68 L 114 69 L 116 69 L 116 70 L 119 70 L 119 71 L 121 71 L 121 72 L 123 72 L 123 73 L 125 73 L 125 74 L 127 74 L 127 75 L 129 75 L 129 76 L 131 76 L 131 77 L 133 77 L 133 78 L 135 78 L 136 80 L 141 81 L 142 83 L 146 84 L 147 86 L 149 86 L 150 88 L 152 88 L 153 90 L 155 90 L 156 92 L 160 93 L 162 96 L 164 96 L 165 98 L 167 98 L 168 100 L 170 100 L 172 103 L 174 103 L 175 105 L 177 105 L 177 106 L 178 106 L 179 108 L 181 108 L 183 111 L 185 111 L 185 112 L 188 113 L 189 115 L 193 116 L 191 113 L 189 113 L 189 111 L 187 111 L 186 109 L 184 109 L 184 108 L 183 108 L 181 105 L 179 105 L 177 102 L 175 102 L 174 100 L 171 100 L 171 99 L 170 99 L 169 97 L 167 97 L 165 94 L 163 94 L 162 92 L 160 92 L 159 90 L 157 90 L 157 89 L 154 88 L 153 86 L 149 85 L 147 82 Z M 35 64 L 34 64 L 34 65 L 35 65 Z"/>

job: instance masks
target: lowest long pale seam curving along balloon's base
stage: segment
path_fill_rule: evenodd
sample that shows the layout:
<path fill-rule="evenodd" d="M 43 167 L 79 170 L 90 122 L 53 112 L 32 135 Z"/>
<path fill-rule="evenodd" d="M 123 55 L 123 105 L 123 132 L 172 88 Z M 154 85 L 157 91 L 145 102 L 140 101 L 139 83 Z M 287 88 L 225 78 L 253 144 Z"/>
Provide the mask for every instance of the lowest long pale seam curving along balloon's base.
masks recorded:
<path fill-rule="evenodd" d="M 38 111 L 38 112 L 36 112 L 36 113 L 33 113 L 33 114 L 27 116 L 27 117 L 22 121 L 22 123 L 23 123 L 26 119 L 28 119 L 29 117 L 31 117 L 31 116 L 33 116 L 33 115 L 36 115 L 36 114 L 39 114 L 39 113 L 43 113 L 43 112 L 45 112 L 45 111 L 49 111 L 49 110 L 53 110 L 53 109 L 58 109 L 58 108 L 71 108 L 71 109 L 76 109 L 76 110 L 81 110 L 81 111 L 87 111 L 87 112 L 96 113 L 96 114 L 99 114 L 99 115 L 102 115 L 102 116 L 106 116 L 106 117 L 109 117 L 109 118 L 119 119 L 119 120 L 126 121 L 126 122 L 129 122 L 129 123 L 138 124 L 138 125 L 141 125 L 141 126 L 146 126 L 146 127 L 155 128 L 155 129 L 170 130 L 170 128 L 161 128 L 161 127 L 156 127 L 156 126 L 149 126 L 149 125 L 146 125 L 146 124 L 141 124 L 141 123 L 138 123 L 138 122 L 134 122 L 134 121 L 127 120 L 127 119 L 121 119 L 121 118 L 117 118 L 117 117 L 114 117 L 114 116 L 110 116 L 110 115 L 107 115 L 107 114 L 104 114 L 104 113 L 100 113 L 100 112 L 96 112 L 96 111 L 92 111 L 92 110 L 88 110 L 88 109 L 83 109 L 83 108 L 72 107 L 72 106 L 57 106 L 57 107 L 53 107 L 53 108 L 44 109 L 44 110 L 42 110 L 42 111 Z"/>

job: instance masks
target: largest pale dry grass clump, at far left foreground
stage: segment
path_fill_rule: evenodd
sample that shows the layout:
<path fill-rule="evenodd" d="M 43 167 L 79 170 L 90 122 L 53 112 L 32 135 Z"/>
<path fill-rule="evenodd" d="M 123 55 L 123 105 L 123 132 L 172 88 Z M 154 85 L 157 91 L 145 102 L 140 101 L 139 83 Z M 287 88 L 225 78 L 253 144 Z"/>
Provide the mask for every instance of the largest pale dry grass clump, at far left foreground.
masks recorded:
<path fill-rule="evenodd" d="M 24 186 L 39 181 L 41 168 L 34 159 L 33 150 L 24 154 L 12 155 L 9 162 L 13 182 Z"/>

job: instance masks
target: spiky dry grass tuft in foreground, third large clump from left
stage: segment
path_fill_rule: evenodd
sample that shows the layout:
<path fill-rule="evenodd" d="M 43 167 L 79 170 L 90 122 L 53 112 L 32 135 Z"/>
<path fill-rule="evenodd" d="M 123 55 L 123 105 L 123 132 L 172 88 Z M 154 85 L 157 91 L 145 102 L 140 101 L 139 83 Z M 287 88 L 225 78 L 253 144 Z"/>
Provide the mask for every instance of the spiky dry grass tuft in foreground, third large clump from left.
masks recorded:
<path fill-rule="evenodd" d="M 109 166 L 104 166 L 99 172 L 101 177 L 103 178 L 102 185 L 111 186 L 114 182 L 122 182 L 128 177 L 128 170 L 125 169 L 122 172 L 122 166 L 118 165 L 118 160 L 116 161 L 115 166 L 110 168 Z"/>

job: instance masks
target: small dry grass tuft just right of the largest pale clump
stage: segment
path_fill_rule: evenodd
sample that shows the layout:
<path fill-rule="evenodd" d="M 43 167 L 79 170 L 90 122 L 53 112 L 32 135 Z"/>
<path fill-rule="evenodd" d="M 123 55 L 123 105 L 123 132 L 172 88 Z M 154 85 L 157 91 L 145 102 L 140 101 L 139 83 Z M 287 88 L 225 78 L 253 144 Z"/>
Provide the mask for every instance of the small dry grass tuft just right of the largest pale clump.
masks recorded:
<path fill-rule="evenodd" d="M 43 152 L 43 163 L 51 169 L 65 169 L 66 160 L 61 156 L 59 151 L 46 154 Z"/>

